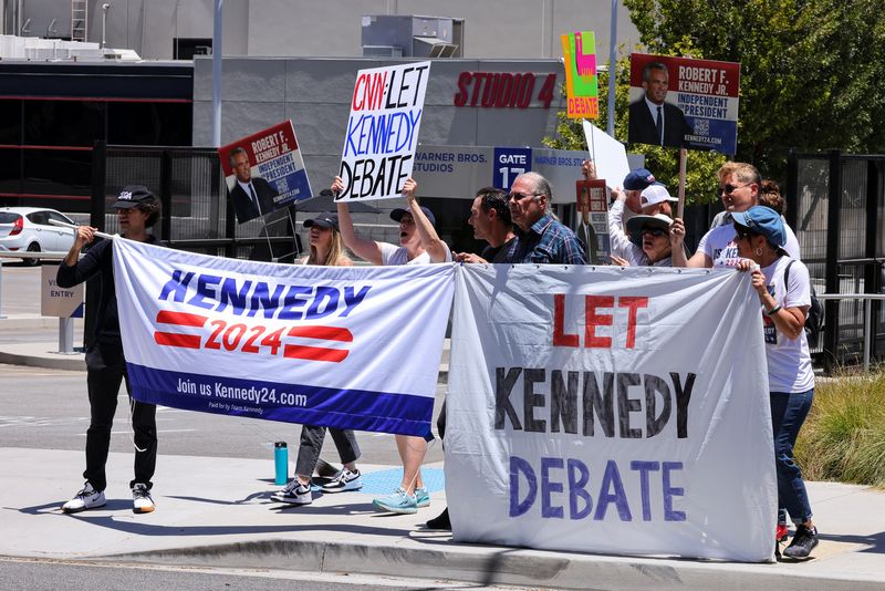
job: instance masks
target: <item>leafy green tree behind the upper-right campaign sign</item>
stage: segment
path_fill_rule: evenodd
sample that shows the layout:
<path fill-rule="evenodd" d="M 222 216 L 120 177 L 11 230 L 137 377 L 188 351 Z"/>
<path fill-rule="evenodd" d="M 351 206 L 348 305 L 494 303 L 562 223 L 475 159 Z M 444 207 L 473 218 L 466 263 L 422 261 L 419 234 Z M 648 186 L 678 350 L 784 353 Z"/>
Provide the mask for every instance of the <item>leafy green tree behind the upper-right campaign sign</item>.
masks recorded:
<path fill-rule="evenodd" d="M 885 148 L 885 0 L 624 0 L 649 53 L 740 62 L 736 159 Z"/>

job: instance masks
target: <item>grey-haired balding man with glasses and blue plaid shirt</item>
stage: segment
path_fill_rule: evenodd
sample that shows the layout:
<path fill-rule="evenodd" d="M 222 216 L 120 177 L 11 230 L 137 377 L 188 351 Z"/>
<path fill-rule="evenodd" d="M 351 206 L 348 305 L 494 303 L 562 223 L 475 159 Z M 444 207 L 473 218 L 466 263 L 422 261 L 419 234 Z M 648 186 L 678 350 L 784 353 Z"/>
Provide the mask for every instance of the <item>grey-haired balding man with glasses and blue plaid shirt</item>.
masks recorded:
<path fill-rule="evenodd" d="M 538 173 L 524 173 L 513 182 L 507 203 L 518 231 L 506 262 L 587 263 L 581 241 L 551 210 L 552 193 Z"/>

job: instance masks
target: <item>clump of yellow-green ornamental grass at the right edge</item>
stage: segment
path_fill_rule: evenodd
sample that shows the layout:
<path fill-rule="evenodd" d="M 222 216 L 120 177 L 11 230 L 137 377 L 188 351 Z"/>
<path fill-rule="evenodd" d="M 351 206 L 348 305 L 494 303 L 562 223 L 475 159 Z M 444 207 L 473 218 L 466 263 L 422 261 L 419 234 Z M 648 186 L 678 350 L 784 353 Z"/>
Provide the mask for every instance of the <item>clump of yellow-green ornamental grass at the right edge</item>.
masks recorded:
<path fill-rule="evenodd" d="M 795 457 L 809 480 L 885 488 L 885 373 L 819 380 Z"/>

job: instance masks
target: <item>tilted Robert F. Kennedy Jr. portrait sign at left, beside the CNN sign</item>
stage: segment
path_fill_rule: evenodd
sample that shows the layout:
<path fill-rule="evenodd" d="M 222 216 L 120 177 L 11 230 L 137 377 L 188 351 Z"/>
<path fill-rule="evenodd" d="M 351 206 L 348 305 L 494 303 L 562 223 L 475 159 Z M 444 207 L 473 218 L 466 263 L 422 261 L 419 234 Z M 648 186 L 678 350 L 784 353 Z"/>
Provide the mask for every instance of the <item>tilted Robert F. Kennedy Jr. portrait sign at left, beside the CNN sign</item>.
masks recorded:
<path fill-rule="evenodd" d="M 313 196 L 291 121 L 220 147 L 218 157 L 240 224 Z"/>

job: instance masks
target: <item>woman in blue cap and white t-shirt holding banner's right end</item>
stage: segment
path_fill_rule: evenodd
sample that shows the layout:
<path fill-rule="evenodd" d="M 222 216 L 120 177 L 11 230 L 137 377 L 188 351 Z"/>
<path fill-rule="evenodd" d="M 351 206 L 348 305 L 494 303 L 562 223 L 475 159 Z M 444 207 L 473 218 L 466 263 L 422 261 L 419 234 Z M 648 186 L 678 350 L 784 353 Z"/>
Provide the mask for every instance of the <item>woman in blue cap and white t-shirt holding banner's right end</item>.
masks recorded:
<path fill-rule="evenodd" d="M 752 286 L 762 304 L 778 514 L 780 518 L 787 511 L 796 526 L 783 554 L 808 558 L 818 546 L 818 530 L 811 519 L 802 470 L 793 459 L 793 445 L 814 398 L 814 373 L 804 331 L 811 307 L 811 280 L 802 261 L 791 259 L 784 250 L 787 232 L 780 214 L 769 207 L 753 206 L 733 212 L 732 218 L 738 255 L 743 259 L 738 268 L 752 269 Z M 783 538 L 779 532 L 778 541 Z"/>

